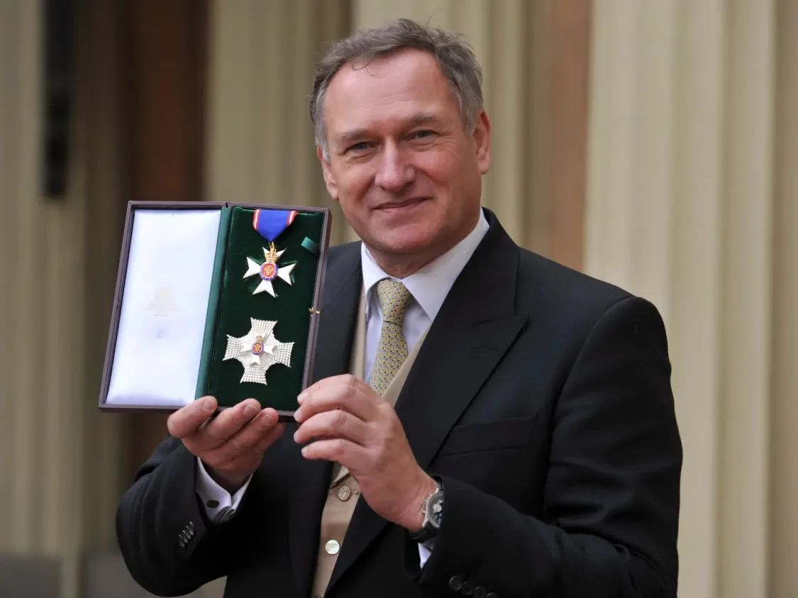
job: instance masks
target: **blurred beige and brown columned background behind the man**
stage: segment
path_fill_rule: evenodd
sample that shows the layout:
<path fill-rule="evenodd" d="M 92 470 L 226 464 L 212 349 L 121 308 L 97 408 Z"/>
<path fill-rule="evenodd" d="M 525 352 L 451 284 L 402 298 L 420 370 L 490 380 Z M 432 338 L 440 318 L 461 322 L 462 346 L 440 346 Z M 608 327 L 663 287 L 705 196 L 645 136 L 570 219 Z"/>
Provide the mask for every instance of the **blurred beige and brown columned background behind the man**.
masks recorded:
<path fill-rule="evenodd" d="M 165 420 L 97 409 L 125 206 L 329 206 L 353 240 L 313 65 L 396 17 L 476 50 L 516 241 L 662 311 L 680 596 L 798 596 L 796 0 L 0 0 L 0 596 L 147 596 L 114 512 Z"/>

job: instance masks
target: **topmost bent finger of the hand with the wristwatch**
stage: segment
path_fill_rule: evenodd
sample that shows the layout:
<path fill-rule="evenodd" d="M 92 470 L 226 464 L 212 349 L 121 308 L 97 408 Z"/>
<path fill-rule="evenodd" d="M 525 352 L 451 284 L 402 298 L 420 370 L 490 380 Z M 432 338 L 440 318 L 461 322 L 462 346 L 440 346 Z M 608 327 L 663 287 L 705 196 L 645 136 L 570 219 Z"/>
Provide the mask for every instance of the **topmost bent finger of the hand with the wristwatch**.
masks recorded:
<path fill-rule="evenodd" d="M 294 415 L 299 423 L 306 422 L 315 414 L 337 409 L 369 422 L 377 414 L 379 397 L 365 382 L 347 374 L 317 382 L 300 395 L 300 400 L 300 407 Z"/>

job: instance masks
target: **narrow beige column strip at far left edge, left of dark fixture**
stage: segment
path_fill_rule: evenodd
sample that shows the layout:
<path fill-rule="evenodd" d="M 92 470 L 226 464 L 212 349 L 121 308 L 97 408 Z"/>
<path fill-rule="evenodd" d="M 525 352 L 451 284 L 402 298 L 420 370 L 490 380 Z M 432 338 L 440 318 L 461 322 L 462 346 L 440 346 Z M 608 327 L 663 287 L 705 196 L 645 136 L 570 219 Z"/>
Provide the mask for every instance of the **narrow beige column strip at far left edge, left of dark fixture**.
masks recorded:
<path fill-rule="evenodd" d="M 35 164 L 38 160 L 36 142 L 39 138 L 39 122 L 35 105 L 39 81 L 36 65 L 39 61 L 38 6 L 34 3 L 5 2 L 0 5 L 0 40 L 3 52 L 0 58 L 0 85 L 3 101 L 0 104 L 2 131 L 0 136 L 0 185 L 4 199 L 3 217 L 0 218 L 0 238 L 3 251 L 0 254 L 2 279 L 6 281 L 0 291 L 2 297 L 2 331 L 6 339 L 15 343 L 0 343 L 0 380 L 6 392 L 0 397 L 3 402 L 0 435 L 5 457 L 6 472 L 0 493 L 0 542 L 6 549 L 25 551 L 34 549 L 41 542 L 36 521 L 41 501 L 38 482 L 41 481 L 41 437 L 31 434 L 34 430 L 34 400 L 43 395 L 41 376 L 34 374 L 31 365 L 19 369 L 20 355 L 32 354 L 32 342 L 41 337 L 41 326 L 36 323 L 36 314 L 43 311 L 43 293 L 31 294 L 30 282 L 22 281 L 36 271 L 38 259 L 31 255 L 34 244 L 34 228 L 37 212 L 43 204 L 38 194 Z M 13 199 L 12 199 L 13 198 Z M 24 286 L 22 286 L 24 285 Z M 27 292 L 27 296 L 25 296 Z M 27 300 L 26 300 L 27 299 Z M 30 339 L 30 341 L 26 341 Z M 16 347 L 22 342 L 22 347 Z"/>

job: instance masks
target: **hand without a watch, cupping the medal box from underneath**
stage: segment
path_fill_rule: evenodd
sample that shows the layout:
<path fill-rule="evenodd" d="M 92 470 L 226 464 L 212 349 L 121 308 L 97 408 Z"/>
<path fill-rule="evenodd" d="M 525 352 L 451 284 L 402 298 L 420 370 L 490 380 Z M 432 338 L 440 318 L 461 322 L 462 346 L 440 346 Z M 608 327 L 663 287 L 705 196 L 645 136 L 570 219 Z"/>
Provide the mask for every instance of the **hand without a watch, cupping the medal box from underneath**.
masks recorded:
<path fill-rule="evenodd" d="M 169 416 L 169 434 L 206 466 L 207 473 L 224 489 L 235 493 L 255 470 L 266 452 L 285 430 L 277 412 L 260 409 L 247 399 L 211 419 L 217 402 L 203 397 Z"/>

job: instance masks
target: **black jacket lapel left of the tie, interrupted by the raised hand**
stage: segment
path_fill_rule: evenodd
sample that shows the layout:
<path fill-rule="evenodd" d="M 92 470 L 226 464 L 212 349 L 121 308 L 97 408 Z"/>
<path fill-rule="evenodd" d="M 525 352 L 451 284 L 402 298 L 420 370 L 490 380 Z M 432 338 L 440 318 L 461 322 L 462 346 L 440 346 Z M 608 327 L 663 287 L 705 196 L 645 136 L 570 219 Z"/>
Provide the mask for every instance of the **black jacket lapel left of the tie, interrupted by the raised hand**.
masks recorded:
<path fill-rule="evenodd" d="M 327 266 L 322 314 L 319 316 L 316 354 L 311 382 L 346 374 L 362 287 L 359 244 L 342 248 Z M 329 461 L 307 461 L 293 438 L 296 426 L 286 427 L 286 464 L 292 482 L 289 501 L 290 556 L 299 596 L 310 593 L 318 551 L 318 521 L 330 483 Z"/>

